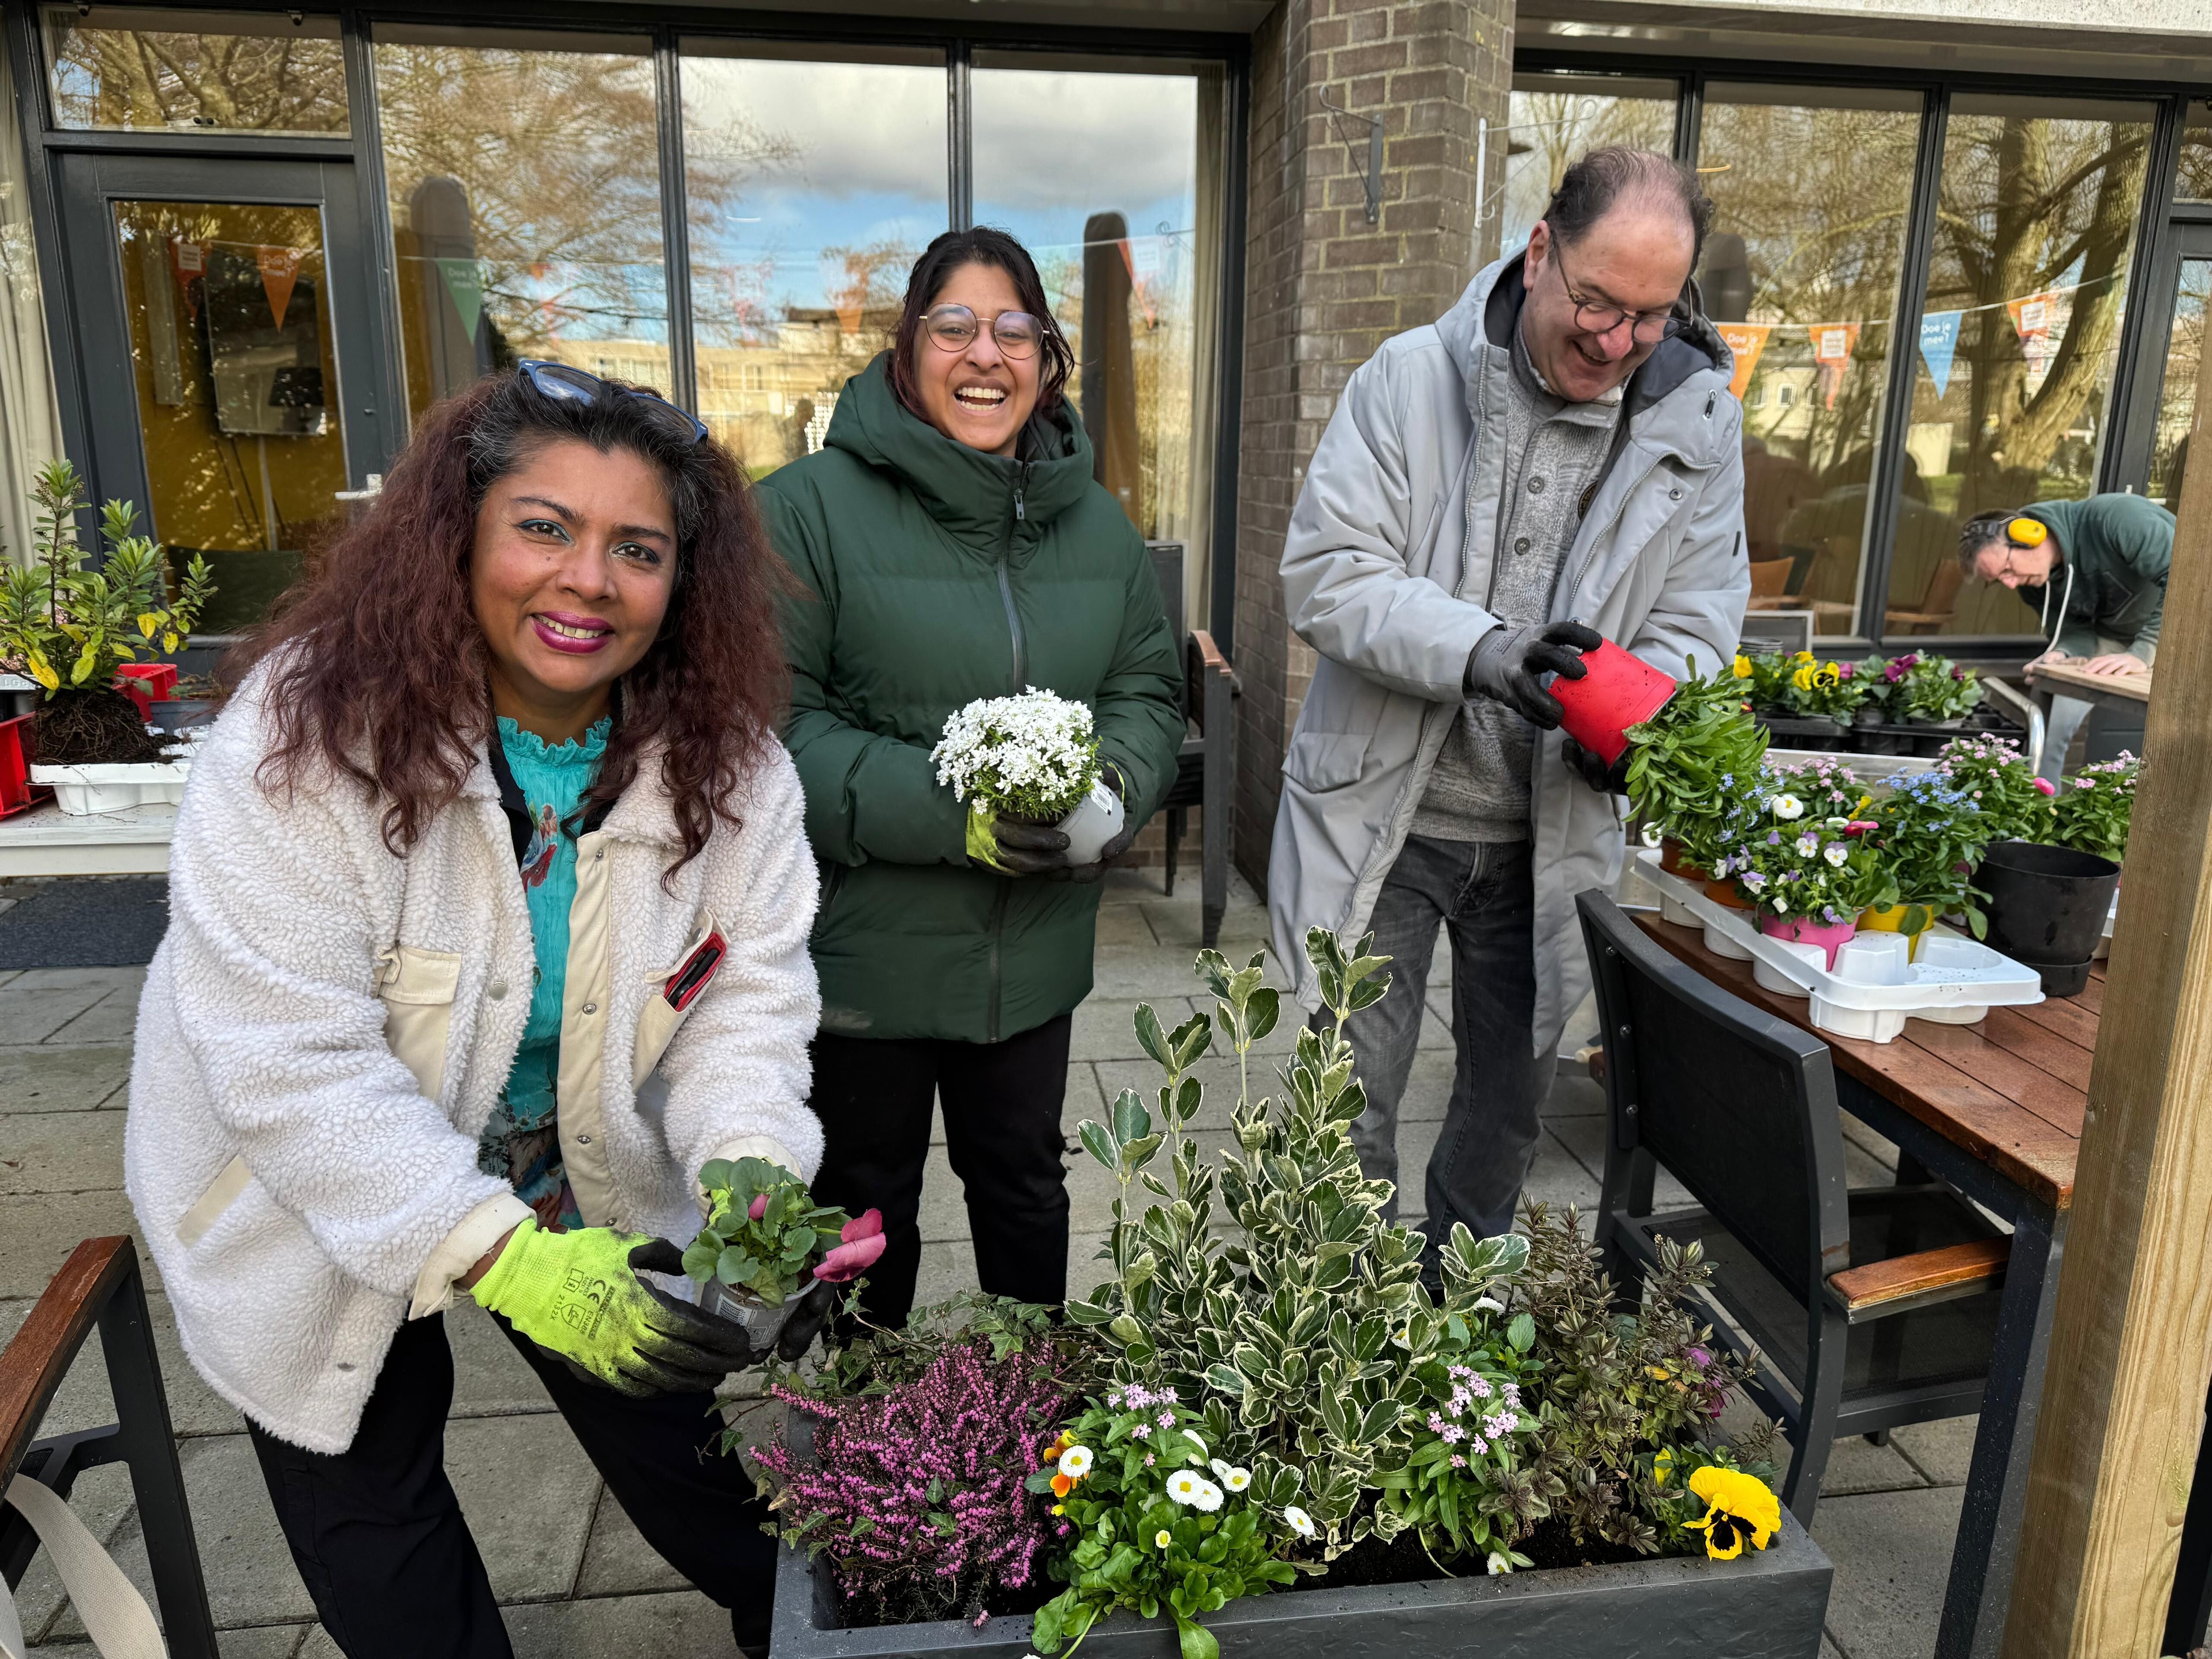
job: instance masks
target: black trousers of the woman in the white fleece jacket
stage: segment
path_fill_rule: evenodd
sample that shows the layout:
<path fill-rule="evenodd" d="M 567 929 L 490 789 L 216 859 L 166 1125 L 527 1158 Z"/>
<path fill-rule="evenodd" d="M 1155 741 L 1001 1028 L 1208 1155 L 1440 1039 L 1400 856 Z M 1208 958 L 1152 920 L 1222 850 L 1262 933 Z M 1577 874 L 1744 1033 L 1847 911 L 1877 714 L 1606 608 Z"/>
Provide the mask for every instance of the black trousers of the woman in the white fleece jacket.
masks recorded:
<path fill-rule="evenodd" d="M 730 1608 L 741 1648 L 765 1652 L 776 1546 L 743 1464 L 712 1449 L 721 1431 L 712 1396 L 633 1400 L 586 1383 L 504 1318 L 498 1325 L 646 1542 Z M 345 1451 L 303 1451 L 248 1420 L 292 1559 L 347 1659 L 513 1659 L 484 1557 L 445 1478 L 451 1405 L 453 1349 L 440 1314 L 400 1325 Z"/>

